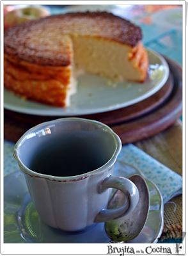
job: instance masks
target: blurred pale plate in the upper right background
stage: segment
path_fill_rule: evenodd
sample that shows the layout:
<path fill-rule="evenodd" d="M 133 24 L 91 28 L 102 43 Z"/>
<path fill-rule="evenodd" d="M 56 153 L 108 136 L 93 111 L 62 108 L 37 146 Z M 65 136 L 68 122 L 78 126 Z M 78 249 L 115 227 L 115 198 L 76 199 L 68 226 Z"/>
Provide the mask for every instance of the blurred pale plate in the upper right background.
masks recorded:
<path fill-rule="evenodd" d="M 152 21 L 162 27 L 182 30 L 182 8 L 154 13 Z"/>

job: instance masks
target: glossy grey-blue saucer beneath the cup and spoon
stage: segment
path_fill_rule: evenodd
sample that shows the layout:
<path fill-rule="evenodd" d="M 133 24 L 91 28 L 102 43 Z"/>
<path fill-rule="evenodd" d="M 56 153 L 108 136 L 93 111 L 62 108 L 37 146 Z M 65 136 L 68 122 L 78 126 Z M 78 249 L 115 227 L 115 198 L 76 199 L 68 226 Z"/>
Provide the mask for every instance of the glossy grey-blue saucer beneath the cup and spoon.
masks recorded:
<path fill-rule="evenodd" d="M 157 243 L 162 232 L 161 193 L 146 180 L 150 191 L 150 212 L 141 234 L 131 243 Z M 151 200 L 152 197 L 155 200 Z M 161 221 L 155 223 L 159 220 Z M 156 218 L 157 217 L 157 218 Z M 158 225 L 159 228 L 153 228 Z M 40 219 L 29 195 L 24 174 L 20 171 L 4 178 L 4 243 L 110 243 L 104 223 L 77 233 L 66 233 L 51 228 Z"/>

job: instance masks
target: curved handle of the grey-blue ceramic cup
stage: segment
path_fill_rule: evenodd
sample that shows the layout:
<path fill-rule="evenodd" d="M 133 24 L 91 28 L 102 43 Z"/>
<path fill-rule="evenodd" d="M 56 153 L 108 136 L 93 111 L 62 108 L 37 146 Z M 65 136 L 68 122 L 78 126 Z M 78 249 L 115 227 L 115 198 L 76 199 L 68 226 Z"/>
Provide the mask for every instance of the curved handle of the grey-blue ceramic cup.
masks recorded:
<path fill-rule="evenodd" d="M 139 201 L 139 191 L 129 179 L 118 176 L 107 176 L 99 184 L 99 192 L 103 193 L 108 188 L 119 189 L 127 198 L 127 203 L 116 209 L 102 209 L 95 217 L 95 222 L 106 222 L 121 218 L 134 210 Z"/>

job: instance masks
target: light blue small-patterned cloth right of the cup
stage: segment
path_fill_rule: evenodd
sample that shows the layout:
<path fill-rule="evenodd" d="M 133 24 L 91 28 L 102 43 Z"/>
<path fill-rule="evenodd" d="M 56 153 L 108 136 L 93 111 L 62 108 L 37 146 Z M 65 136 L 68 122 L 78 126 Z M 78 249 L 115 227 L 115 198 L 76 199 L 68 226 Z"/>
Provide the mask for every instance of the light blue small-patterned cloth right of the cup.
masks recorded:
<path fill-rule="evenodd" d="M 174 196 L 182 194 L 182 176 L 134 145 L 123 146 L 118 160 L 138 168 L 146 178 L 152 180 L 161 191 L 164 204 Z M 116 174 L 120 175 L 118 172 Z M 123 172 L 121 174 L 123 175 Z"/>

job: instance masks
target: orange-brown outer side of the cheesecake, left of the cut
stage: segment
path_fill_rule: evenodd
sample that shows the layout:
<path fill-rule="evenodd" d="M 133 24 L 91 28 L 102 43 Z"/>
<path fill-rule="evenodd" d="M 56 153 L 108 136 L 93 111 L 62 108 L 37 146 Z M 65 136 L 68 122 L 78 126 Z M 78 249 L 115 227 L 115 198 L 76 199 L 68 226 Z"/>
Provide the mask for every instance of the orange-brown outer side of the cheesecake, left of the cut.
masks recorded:
<path fill-rule="evenodd" d="M 4 87 L 23 99 L 66 107 L 70 67 L 43 67 L 26 61 L 8 60 L 4 54 Z M 21 63 L 21 64 L 20 64 Z"/>

